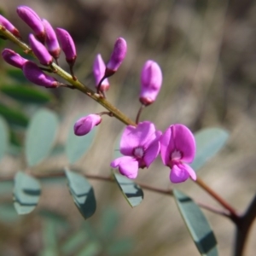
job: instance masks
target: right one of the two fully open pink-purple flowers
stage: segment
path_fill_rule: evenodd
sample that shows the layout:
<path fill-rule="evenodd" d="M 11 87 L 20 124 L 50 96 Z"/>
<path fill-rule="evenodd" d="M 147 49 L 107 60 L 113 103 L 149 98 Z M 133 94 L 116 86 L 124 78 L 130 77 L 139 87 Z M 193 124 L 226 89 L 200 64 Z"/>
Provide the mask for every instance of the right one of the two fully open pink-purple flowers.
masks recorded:
<path fill-rule="evenodd" d="M 171 167 L 172 183 L 182 183 L 189 177 L 196 179 L 195 171 L 186 163 L 195 158 L 195 137 L 185 125 L 171 125 L 160 137 L 160 154 L 164 165 Z"/>

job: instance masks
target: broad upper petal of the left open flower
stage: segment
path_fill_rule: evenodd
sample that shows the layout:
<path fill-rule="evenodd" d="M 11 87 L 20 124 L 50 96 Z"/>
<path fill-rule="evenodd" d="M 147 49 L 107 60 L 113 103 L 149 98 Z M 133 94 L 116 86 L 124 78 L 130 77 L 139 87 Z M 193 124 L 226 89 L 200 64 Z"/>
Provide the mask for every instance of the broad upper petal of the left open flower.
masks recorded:
<path fill-rule="evenodd" d="M 120 152 L 132 155 L 133 149 L 151 143 L 155 138 L 154 124 L 148 121 L 141 122 L 137 127 L 128 125 L 121 137 Z M 146 149 L 146 148 L 145 148 Z"/>

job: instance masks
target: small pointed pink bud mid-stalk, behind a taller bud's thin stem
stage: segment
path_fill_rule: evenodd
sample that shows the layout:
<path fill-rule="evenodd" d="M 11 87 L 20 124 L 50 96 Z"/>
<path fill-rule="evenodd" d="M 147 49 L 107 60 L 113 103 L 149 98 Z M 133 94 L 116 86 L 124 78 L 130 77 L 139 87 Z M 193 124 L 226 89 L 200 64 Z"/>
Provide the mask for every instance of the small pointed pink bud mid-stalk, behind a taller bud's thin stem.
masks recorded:
<path fill-rule="evenodd" d="M 93 63 L 93 74 L 96 80 L 96 87 L 98 87 L 100 81 L 104 77 L 105 70 L 106 70 L 106 65 L 102 60 L 102 55 L 100 54 L 96 55 L 95 61 Z M 101 91 L 106 91 L 108 89 L 109 89 L 108 79 L 104 79 L 102 81 Z"/>

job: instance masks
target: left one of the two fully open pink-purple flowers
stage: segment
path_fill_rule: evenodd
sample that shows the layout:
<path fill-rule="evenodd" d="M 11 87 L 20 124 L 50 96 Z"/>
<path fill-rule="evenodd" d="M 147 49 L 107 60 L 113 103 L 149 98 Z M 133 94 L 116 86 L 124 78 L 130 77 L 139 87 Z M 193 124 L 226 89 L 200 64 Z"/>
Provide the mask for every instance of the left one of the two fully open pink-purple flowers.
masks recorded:
<path fill-rule="evenodd" d="M 137 127 L 128 125 L 121 137 L 120 152 L 125 156 L 113 160 L 113 168 L 129 178 L 136 178 L 138 168 L 151 165 L 160 152 L 161 132 L 155 131 L 154 124 L 141 122 Z"/>

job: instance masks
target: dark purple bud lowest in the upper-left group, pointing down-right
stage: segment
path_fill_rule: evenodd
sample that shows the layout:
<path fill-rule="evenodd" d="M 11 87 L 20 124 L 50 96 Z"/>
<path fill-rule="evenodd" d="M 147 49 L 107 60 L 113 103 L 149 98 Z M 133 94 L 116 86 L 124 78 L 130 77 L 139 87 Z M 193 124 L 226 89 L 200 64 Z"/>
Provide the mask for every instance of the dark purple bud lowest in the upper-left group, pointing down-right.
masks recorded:
<path fill-rule="evenodd" d="M 44 73 L 38 65 L 32 61 L 26 61 L 22 67 L 23 73 L 30 82 L 47 88 L 55 88 L 60 84 L 54 78 Z"/>

